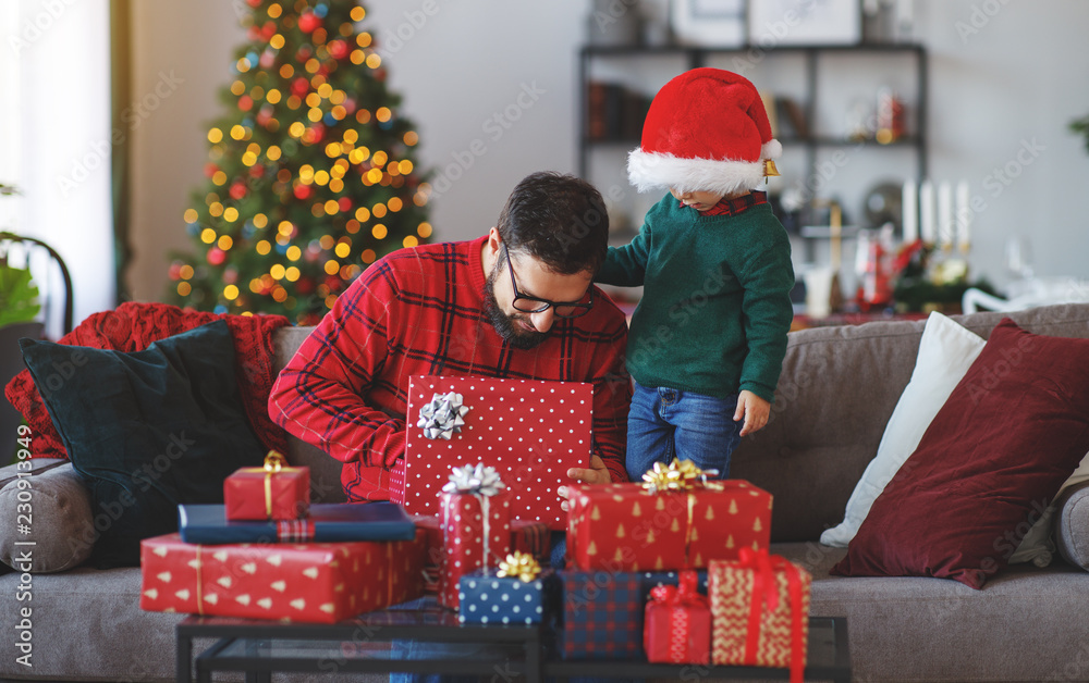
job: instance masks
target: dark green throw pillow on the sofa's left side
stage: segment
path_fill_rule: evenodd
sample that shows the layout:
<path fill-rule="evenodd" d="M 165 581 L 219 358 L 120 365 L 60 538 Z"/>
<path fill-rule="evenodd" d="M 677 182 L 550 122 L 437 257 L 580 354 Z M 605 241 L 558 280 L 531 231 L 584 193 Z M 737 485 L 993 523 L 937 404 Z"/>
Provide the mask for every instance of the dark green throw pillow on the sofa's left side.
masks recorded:
<path fill-rule="evenodd" d="M 259 465 L 224 321 L 134 353 L 21 339 L 23 360 L 91 493 L 93 559 L 139 564 L 139 542 L 178 531 L 179 504 L 222 502 L 223 479 Z"/>

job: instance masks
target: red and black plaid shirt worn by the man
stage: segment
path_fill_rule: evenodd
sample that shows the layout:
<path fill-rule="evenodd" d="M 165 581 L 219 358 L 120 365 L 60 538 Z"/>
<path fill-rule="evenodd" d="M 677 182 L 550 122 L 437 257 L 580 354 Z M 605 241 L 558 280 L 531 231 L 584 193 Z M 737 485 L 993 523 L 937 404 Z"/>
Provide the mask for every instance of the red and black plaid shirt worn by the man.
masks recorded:
<path fill-rule="evenodd" d="M 592 383 L 594 454 L 613 481 L 627 481 L 624 313 L 597 290 L 589 313 L 556 318 L 537 348 L 513 348 L 485 313 L 485 239 L 403 249 L 375 262 L 280 372 L 269 413 L 344 463 L 348 500 L 389 498 L 390 470 L 405 454 L 409 375 Z"/>

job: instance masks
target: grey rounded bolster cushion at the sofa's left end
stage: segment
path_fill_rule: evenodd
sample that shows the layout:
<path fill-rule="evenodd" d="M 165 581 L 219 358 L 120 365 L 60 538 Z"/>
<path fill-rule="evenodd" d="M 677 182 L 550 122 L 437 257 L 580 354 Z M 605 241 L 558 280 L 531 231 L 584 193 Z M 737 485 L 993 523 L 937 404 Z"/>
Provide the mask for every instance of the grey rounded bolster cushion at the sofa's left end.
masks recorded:
<path fill-rule="evenodd" d="M 86 561 L 94 548 L 90 493 L 71 462 L 0 488 L 0 519 L 10 520 L 0 535 L 0 561 L 20 572 L 65 571 Z"/>

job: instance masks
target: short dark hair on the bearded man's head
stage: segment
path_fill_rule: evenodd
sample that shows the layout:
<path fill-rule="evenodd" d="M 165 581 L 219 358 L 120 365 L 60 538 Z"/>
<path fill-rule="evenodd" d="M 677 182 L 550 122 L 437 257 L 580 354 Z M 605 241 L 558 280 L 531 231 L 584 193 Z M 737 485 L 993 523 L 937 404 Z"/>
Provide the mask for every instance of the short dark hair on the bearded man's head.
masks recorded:
<path fill-rule="evenodd" d="M 528 253 L 561 275 L 596 273 L 609 248 L 609 213 L 592 185 L 551 171 L 533 173 L 499 214 L 499 236 L 513 253 Z"/>

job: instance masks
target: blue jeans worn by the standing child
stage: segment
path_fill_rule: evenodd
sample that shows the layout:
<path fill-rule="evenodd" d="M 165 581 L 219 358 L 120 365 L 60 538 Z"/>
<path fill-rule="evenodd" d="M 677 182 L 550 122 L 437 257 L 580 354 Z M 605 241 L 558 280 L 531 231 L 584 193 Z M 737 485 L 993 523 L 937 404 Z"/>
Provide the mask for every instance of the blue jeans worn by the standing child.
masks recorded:
<path fill-rule="evenodd" d="M 715 398 L 635 383 L 627 415 L 627 475 L 641 482 L 654 462 L 676 457 L 700 469 L 730 474 L 730 456 L 741 443 L 744 422 L 734 422 L 737 394 Z"/>

